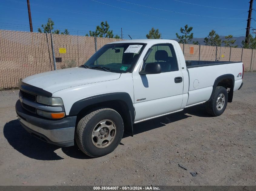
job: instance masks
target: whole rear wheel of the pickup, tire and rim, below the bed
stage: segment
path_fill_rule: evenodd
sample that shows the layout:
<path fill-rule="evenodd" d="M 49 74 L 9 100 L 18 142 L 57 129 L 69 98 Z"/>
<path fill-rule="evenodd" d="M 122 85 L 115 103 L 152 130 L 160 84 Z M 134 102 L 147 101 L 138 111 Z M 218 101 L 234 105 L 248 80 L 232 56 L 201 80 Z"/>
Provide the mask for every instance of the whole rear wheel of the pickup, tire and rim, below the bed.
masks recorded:
<path fill-rule="evenodd" d="M 228 92 L 226 88 L 217 86 L 211 100 L 206 102 L 206 111 L 212 116 L 220 116 L 228 104 Z"/>

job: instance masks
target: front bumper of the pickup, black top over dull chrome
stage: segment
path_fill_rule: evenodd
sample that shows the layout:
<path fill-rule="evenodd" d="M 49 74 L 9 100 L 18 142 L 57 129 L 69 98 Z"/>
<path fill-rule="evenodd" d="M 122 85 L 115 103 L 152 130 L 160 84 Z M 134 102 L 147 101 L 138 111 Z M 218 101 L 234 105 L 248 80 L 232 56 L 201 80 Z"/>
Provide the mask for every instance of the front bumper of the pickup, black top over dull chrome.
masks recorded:
<path fill-rule="evenodd" d="M 16 102 L 15 109 L 22 127 L 31 135 L 63 147 L 74 145 L 76 116 L 58 120 L 45 119 L 25 110 L 20 100 Z"/>

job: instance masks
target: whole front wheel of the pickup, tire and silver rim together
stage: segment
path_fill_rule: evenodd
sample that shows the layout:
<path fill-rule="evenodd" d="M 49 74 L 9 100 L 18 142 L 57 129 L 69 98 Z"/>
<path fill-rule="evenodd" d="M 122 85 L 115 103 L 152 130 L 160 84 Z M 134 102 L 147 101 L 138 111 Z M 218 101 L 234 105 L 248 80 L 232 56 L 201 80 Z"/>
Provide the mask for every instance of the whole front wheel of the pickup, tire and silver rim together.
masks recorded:
<path fill-rule="evenodd" d="M 75 140 L 88 156 L 101 157 L 115 150 L 123 133 L 124 123 L 119 113 L 111 108 L 99 108 L 78 122 Z"/>

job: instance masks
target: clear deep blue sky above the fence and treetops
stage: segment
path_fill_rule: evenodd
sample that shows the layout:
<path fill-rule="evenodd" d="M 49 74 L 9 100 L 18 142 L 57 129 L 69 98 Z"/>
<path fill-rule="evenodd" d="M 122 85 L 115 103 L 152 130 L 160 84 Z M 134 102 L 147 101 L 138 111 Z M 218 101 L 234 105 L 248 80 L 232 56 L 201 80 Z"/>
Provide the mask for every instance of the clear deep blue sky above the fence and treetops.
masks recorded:
<path fill-rule="evenodd" d="M 29 31 L 26 0 L 1 0 L 0 29 Z M 185 24 L 194 37 L 206 37 L 212 29 L 219 35 L 245 36 L 249 0 L 30 0 L 34 32 L 51 18 L 54 29 L 85 35 L 101 21 L 108 21 L 113 33 L 128 39 L 146 38 L 151 27 L 164 39 L 176 38 Z M 256 5 L 256 2 L 254 2 Z M 202 6 L 203 5 L 203 6 Z M 253 11 L 252 17 L 256 11 Z M 252 27 L 256 22 L 252 20 Z M 251 31 L 252 32 L 252 31 Z"/>

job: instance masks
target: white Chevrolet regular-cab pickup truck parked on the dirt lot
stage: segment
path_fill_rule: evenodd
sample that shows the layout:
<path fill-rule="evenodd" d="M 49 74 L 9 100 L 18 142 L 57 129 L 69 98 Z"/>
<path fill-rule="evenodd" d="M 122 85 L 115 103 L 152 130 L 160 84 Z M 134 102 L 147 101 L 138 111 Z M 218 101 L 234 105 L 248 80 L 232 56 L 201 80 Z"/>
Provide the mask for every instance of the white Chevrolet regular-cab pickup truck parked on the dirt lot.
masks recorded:
<path fill-rule="evenodd" d="M 135 123 L 203 103 L 221 115 L 243 74 L 242 62 L 185 61 L 174 40 L 118 41 L 80 67 L 19 81 L 16 112 L 32 135 L 99 157 Z"/>

